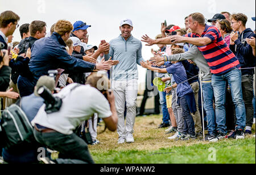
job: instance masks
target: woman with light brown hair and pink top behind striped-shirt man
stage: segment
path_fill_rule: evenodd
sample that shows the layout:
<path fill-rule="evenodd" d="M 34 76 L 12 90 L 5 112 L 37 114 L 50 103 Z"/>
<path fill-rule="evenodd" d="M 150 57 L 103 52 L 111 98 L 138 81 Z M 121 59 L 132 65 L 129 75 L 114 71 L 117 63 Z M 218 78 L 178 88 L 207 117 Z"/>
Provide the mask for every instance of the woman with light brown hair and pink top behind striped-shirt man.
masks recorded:
<path fill-rule="evenodd" d="M 224 38 L 228 47 L 230 45 L 230 33 L 232 32 L 231 24 L 226 19 L 217 20 L 216 27 L 220 30 L 222 38 Z"/>

